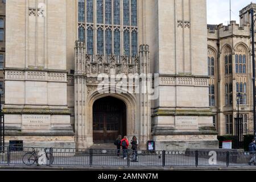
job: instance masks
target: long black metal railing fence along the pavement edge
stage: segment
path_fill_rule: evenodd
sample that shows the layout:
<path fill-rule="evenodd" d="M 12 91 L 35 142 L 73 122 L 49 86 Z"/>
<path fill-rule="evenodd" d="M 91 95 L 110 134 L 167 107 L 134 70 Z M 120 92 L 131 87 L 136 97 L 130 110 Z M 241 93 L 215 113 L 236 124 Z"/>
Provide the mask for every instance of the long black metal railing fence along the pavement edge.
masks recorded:
<path fill-rule="evenodd" d="M 24 157 L 27 153 L 45 151 L 39 147 L 2 147 L 0 166 L 25 165 Z M 251 152 L 230 151 L 126 151 L 127 159 L 123 158 L 123 151 L 119 156 L 117 150 L 75 149 L 75 148 L 47 148 L 47 166 L 81 166 L 81 167 L 229 167 L 249 166 L 254 154 Z M 38 156 L 39 157 L 39 156 Z M 135 161 L 135 159 L 137 161 Z M 31 163 L 31 161 L 30 161 Z M 36 166 L 37 163 L 32 163 Z"/>

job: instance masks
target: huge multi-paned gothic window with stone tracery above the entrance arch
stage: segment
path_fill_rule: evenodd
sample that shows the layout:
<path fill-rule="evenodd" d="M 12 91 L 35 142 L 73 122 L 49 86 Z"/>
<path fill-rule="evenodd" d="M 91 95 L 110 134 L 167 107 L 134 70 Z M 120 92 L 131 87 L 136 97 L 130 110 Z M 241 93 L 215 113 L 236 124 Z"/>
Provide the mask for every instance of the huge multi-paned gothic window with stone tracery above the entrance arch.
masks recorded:
<path fill-rule="evenodd" d="M 86 43 L 87 53 L 138 56 L 137 1 L 77 0 L 77 39 Z"/>

